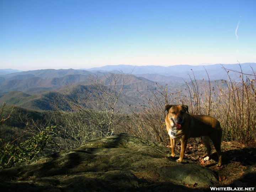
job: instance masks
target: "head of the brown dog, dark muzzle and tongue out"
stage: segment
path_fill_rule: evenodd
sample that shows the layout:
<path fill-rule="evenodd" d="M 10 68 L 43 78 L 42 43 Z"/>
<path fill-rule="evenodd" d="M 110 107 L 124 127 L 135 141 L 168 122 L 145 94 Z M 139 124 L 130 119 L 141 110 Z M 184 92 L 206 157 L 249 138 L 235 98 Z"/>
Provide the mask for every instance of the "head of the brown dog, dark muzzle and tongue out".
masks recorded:
<path fill-rule="evenodd" d="M 177 129 L 181 128 L 186 112 L 188 113 L 187 105 L 166 105 L 167 117 L 172 121 Z"/>

